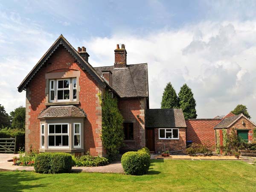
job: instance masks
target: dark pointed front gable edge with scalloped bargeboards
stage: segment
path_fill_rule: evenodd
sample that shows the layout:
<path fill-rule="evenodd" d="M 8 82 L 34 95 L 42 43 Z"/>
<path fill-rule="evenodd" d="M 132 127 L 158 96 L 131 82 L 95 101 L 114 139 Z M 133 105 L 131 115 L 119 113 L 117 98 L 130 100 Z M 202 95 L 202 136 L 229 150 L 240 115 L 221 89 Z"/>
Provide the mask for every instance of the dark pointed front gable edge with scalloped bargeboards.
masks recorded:
<path fill-rule="evenodd" d="M 72 45 L 64 38 L 64 36 L 60 35 L 58 39 L 52 44 L 52 46 L 47 50 L 47 52 L 43 55 L 43 57 L 38 61 L 35 67 L 29 72 L 26 78 L 20 83 L 19 87 L 17 87 L 19 92 L 22 92 L 22 90 L 26 89 L 29 81 L 31 81 L 31 79 L 41 69 L 41 67 L 45 64 L 45 62 L 52 55 L 52 53 L 61 45 L 64 46 L 74 58 L 76 58 L 77 62 L 83 70 L 87 71 L 91 76 L 93 76 L 93 78 L 102 87 L 106 87 L 104 79 L 102 79 L 102 77 L 99 76 L 98 73 L 96 73 L 94 68 L 87 61 L 85 61 L 83 57 L 81 57 L 79 52 L 77 52 L 76 49 L 72 47 Z"/>

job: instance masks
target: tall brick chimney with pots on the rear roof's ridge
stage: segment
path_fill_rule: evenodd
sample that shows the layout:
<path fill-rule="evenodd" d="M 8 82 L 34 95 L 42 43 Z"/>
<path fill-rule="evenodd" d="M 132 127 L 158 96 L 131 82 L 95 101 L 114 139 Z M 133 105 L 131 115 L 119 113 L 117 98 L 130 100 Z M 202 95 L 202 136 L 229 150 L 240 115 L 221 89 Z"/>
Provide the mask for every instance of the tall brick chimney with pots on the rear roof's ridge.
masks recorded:
<path fill-rule="evenodd" d="M 125 50 L 125 44 L 121 45 L 121 49 L 119 48 L 119 44 L 116 45 L 115 49 L 115 68 L 124 68 L 126 67 L 126 55 L 127 52 Z"/>

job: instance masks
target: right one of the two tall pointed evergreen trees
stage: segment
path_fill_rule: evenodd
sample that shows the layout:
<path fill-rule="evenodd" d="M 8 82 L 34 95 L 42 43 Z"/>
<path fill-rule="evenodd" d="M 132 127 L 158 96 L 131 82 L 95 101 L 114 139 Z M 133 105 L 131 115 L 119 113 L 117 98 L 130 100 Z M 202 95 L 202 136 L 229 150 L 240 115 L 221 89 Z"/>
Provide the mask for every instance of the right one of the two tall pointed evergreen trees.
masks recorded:
<path fill-rule="evenodd" d="M 195 119 L 197 117 L 195 106 L 192 90 L 185 83 L 179 92 L 179 107 L 183 110 L 185 119 Z"/>

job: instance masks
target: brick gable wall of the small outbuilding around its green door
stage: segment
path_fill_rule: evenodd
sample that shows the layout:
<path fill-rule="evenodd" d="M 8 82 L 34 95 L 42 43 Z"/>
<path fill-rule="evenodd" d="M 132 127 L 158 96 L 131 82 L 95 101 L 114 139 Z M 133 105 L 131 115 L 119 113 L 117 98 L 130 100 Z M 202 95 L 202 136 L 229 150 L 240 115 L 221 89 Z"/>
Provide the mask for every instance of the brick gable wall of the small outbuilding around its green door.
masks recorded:
<path fill-rule="evenodd" d="M 244 121 L 244 125 L 242 124 L 242 121 Z M 227 129 L 227 133 L 230 134 L 233 128 L 234 129 L 250 129 L 248 133 L 248 140 L 249 142 L 253 141 L 253 129 L 256 127 L 244 117 L 241 117 L 237 122 L 231 125 L 230 128 Z"/>

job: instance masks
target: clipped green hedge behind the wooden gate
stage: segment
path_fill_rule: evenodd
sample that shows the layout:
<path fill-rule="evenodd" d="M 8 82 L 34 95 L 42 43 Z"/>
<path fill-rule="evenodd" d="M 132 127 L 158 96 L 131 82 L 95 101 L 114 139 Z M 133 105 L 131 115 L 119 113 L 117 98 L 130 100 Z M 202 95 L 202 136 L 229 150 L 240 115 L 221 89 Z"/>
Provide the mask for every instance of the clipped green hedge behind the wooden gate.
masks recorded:
<path fill-rule="evenodd" d="M 0 130 L 0 138 L 15 138 L 16 137 L 16 150 L 25 147 L 25 131 L 20 131 L 17 129 L 2 129 Z"/>

